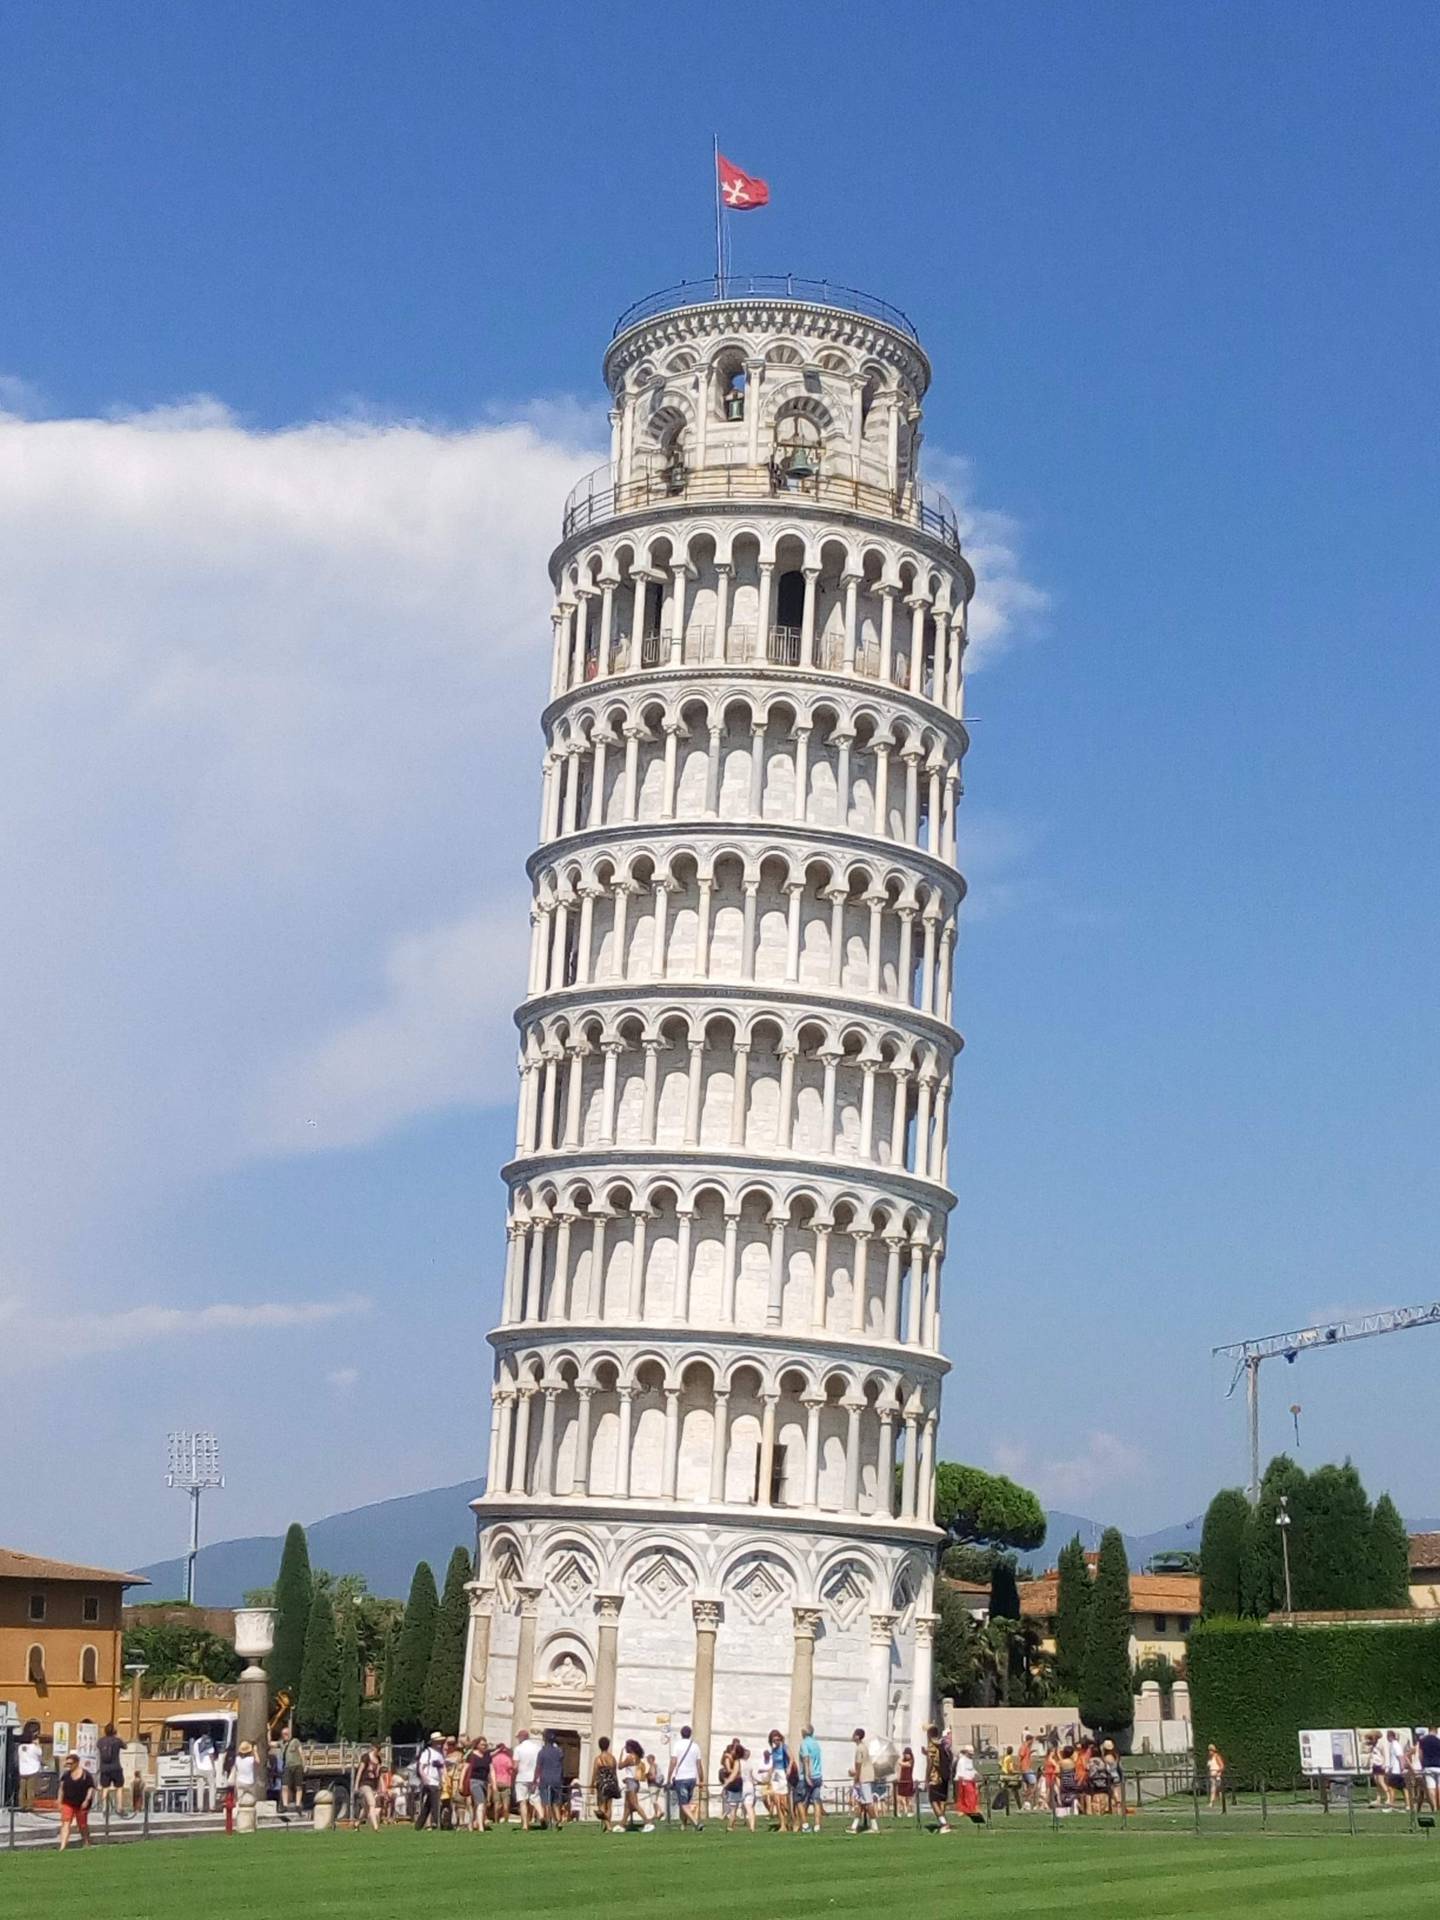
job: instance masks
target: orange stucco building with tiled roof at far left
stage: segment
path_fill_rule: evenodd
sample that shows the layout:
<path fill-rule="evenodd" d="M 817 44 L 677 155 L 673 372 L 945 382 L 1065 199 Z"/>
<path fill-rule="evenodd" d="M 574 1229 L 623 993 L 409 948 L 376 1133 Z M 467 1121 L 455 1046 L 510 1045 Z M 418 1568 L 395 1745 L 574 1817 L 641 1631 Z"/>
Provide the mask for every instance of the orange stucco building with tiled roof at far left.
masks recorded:
<path fill-rule="evenodd" d="M 56 1722 L 71 1740 L 81 1720 L 119 1722 L 127 1586 L 146 1580 L 0 1548 L 0 1699 L 38 1720 L 46 1743 Z"/>

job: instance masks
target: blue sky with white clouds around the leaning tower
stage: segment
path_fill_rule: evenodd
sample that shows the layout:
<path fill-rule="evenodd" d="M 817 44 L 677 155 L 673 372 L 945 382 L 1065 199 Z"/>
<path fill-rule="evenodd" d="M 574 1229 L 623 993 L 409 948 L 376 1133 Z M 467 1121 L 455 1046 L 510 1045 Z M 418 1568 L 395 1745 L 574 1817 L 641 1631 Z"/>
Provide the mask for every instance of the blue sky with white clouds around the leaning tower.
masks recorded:
<path fill-rule="evenodd" d="M 614 313 L 707 269 L 712 129 L 772 182 L 739 269 L 916 319 L 1006 593 L 947 1452 L 1181 1519 L 1242 1473 L 1215 1340 L 1438 1290 L 1440 17 L 659 23 L 6 15 L 15 1546 L 179 1544 L 171 1423 L 227 1534 L 480 1471 L 543 557 Z M 1434 1513 L 1434 1338 L 1271 1373 L 1267 1448 L 1302 1402 Z M 69 1415 L 125 1503 L 60 1503 Z"/>

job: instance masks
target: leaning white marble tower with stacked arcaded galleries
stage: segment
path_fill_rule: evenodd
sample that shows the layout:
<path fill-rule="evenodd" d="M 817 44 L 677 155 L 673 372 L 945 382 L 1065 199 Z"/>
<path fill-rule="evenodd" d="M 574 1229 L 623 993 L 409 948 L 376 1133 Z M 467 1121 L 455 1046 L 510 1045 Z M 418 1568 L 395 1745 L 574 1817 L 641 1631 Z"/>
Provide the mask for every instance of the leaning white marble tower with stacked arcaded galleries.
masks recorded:
<path fill-rule="evenodd" d="M 929 361 L 828 282 L 622 315 L 564 507 L 467 1730 L 931 1705 L 964 651 Z"/>

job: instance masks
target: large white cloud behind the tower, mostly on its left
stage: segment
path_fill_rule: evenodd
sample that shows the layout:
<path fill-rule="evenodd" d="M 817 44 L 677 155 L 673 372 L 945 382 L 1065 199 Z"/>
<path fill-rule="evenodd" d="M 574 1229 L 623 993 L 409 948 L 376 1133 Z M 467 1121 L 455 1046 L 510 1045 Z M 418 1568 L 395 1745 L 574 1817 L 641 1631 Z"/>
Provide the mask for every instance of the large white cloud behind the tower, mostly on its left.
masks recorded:
<path fill-rule="evenodd" d="M 36 407 L 0 384 L 0 1265 L 84 1288 L 207 1175 L 513 1098 L 545 559 L 605 420 Z M 1039 597 L 954 470 L 993 651 Z"/>

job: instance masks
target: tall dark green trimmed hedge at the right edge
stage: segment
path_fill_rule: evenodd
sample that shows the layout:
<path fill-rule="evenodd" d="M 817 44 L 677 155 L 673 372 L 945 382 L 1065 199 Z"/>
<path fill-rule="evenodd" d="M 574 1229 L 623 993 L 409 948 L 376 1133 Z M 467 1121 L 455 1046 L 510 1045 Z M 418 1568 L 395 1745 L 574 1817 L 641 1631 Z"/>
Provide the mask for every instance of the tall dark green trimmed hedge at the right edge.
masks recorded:
<path fill-rule="evenodd" d="M 1213 1740 L 1236 1788 L 1288 1780 L 1302 1726 L 1440 1726 L 1440 1622 L 1202 1620 L 1187 1676 L 1196 1753 Z"/>

